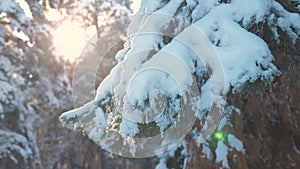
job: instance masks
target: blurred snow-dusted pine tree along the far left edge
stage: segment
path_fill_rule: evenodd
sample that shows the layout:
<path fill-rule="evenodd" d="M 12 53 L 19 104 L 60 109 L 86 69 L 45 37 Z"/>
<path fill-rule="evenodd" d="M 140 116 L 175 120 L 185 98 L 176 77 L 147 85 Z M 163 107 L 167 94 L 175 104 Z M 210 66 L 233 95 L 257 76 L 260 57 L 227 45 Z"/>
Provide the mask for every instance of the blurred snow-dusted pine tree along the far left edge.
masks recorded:
<path fill-rule="evenodd" d="M 0 168 L 41 168 L 37 129 L 47 113 L 62 109 L 60 102 L 70 105 L 64 66 L 51 52 L 49 22 L 39 3 L 28 5 L 32 18 L 16 1 L 0 2 Z"/>

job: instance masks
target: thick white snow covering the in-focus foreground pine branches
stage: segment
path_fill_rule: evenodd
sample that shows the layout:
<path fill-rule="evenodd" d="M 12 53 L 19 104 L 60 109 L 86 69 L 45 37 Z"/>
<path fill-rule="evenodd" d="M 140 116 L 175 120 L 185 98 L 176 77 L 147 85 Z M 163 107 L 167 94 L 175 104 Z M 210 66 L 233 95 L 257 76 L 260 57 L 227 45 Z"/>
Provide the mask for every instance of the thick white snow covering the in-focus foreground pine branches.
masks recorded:
<path fill-rule="evenodd" d="M 232 0 L 228 4 L 218 0 L 198 3 L 189 0 L 186 1 L 188 6 L 195 8 L 191 16 L 186 16 L 189 14 L 185 15 L 184 12 L 178 14 L 177 9 L 182 2 L 142 1 L 140 11 L 129 25 L 126 48 L 116 56 L 119 63 L 98 87 L 97 96 L 91 102 L 93 105 L 63 114 L 61 118 L 74 120 L 75 114 L 79 118 L 92 114 L 90 120 L 95 123 L 106 121 L 105 124 L 109 124 L 115 122 L 114 116 L 120 116 L 122 121 L 118 132 L 122 137 L 135 136 L 140 132 L 138 123 L 153 120 L 160 131 L 164 132 L 174 122 L 166 118 L 174 114 L 161 113 L 166 105 L 165 99 L 176 103 L 174 98 L 180 96 L 186 101 L 189 97 L 186 93 L 192 93 L 192 96 L 197 95 L 191 100 L 193 113 L 198 119 L 204 117 L 212 103 L 220 109 L 215 114 L 218 118 L 209 115 L 203 128 L 208 132 L 214 131 L 218 124 L 211 126 L 210 122 L 217 120 L 220 122 L 217 129 L 221 129 L 228 124 L 226 117 L 221 118 L 226 94 L 239 92 L 243 85 L 258 79 L 271 81 L 275 75 L 280 74 L 272 63 L 274 58 L 266 42 L 248 29 L 257 23 L 267 23 L 274 28 L 272 31 L 275 38 L 279 38 L 278 27 L 287 32 L 293 42 L 300 34 L 300 16 L 286 11 L 274 0 Z M 188 17 L 191 17 L 191 21 Z M 172 21 L 178 21 L 177 29 L 165 33 L 164 30 L 168 29 Z M 163 35 L 173 39 L 165 43 Z M 201 90 L 191 90 L 195 83 L 193 76 L 197 75 L 201 79 L 203 72 L 208 72 L 210 77 L 199 86 Z M 106 98 L 110 98 L 114 105 L 105 104 L 103 100 Z M 155 104 L 155 99 L 160 100 L 161 105 Z M 99 109 L 96 110 L 97 106 Z M 113 108 L 112 112 L 103 109 L 107 106 Z M 180 107 L 172 106 L 171 109 L 176 111 Z M 161 114 L 154 118 L 151 116 L 151 108 Z M 86 114 L 80 113 L 82 110 Z M 109 114 L 107 119 L 104 116 L 106 113 Z M 97 126 L 98 130 L 102 128 L 103 131 L 105 127 Z M 89 129 L 89 136 L 96 136 L 98 130 Z M 194 132 L 195 138 L 204 138 L 203 135 L 211 134 L 208 132 Z M 228 145 L 218 141 L 216 148 L 216 161 L 221 162 L 225 168 L 229 167 L 228 146 L 244 151 L 242 141 L 232 134 L 227 137 Z M 208 146 L 204 146 L 203 153 L 211 157 L 208 149 Z M 158 166 L 165 167 L 163 161 Z"/>

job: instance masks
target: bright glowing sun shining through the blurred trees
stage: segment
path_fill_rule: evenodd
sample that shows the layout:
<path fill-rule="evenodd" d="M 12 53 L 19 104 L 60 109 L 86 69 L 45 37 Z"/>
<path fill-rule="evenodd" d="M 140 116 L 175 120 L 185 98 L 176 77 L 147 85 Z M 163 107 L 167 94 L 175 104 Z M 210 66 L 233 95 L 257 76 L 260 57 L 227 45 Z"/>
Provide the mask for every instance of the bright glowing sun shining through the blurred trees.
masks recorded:
<path fill-rule="evenodd" d="M 64 60 L 74 62 L 79 57 L 86 42 L 86 33 L 79 24 L 64 21 L 54 33 L 54 46 Z"/>

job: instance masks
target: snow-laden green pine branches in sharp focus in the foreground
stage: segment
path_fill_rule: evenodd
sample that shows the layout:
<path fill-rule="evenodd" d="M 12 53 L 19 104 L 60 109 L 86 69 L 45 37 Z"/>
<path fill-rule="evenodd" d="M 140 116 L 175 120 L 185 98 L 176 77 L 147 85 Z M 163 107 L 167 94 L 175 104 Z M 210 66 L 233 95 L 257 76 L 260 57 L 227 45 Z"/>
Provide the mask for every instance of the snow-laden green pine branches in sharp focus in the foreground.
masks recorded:
<path fill-rule="evenodd" d="M 273 63 L 270 47 L 274 48 L 274 41 L 281 43 L 286 39 L 291 46 L 299 43 L 299 2 L 288 3 L 274 0 L 143 1 L 128 28 L 127 45 L 116 56 L 119 62 L 98 87 L 95 100 L 63 114 L 61 121 L 81 128 L 113 153 L 151 156 L 157 153 L 151 152 L 153 145 L 138 142 L 138 138 L 160 134 L 163 137 L 168 129 L 176 128 L 174 123 L 179 123 L 178 119 L 183 120 L 185 115 L 180 114 L 180 108 L 186 108 L 184 100 L 188 100 L 187 106 L 197 118 L 196 125 L 173 150 L 156 154 L 160 158 L 157 168 L 197 168 L 200 163 L 196 155 L 204 159 L 200 166 L 246 167 L 243 161 L 249 150 L 234 133 L 229 133 L 233 125 L 231 118 L 242 117 L 243 112 L 222 94 L 228 95 L 228 99 L 240 95 L 247 98 L 253 84 L 272 87 L 280 71 Z M 270 35 L 269 39 L 266 34 Z M 203 43 L 206 42 L 203 37 L 212 46 Z M 217 53 L 217 62 L 203 45 Z M 210 55 L 199 56 L 203 52 Z M 223 66 L 223 85 L 214 79 L 216 75 L 222 78 L 218 74 L 220 65 L 215 65 L 218 63 Z M 216 83 L 213 89 L 211 83 Z M 191 101 L 193 99 L 196 102 Z M 216 116 L 209 116 L 211 102 L 207 100 L 215 103 L 219 110 Z M 157 113 L 158 116 L 152 116 Z M 202 123 L 205 117 L 220 124 L 218 127 L 208 124 L 212 130 L 205 133 L 201 130 L 201 126 L 207 129 Z M 164 144 L 173 140 L 163 141 L 161 146 L 168 149 Z M 235 157 L 242 162 L 236 162 Z M 176 162 L 172 158 L 177 158 Z"/>

